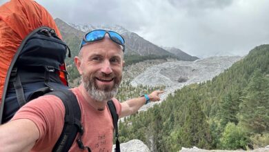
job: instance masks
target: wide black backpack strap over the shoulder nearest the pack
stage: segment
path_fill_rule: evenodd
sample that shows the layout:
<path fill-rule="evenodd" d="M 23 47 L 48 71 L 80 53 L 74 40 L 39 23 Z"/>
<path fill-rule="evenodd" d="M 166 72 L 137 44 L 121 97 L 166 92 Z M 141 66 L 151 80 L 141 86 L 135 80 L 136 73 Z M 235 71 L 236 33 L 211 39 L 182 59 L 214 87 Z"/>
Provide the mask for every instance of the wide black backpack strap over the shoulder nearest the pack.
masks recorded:
<path fill-rule="evenodd" d="M 77 133 L 83 132 L 81 125 L 81 110 L 79 103 L 77 102 L 77 97 L 69 90 L 57 90 L 48 94 L 59 97 L 66 108 L 63 131 L 52 151 L 68 151 L 72 146 Z"/>

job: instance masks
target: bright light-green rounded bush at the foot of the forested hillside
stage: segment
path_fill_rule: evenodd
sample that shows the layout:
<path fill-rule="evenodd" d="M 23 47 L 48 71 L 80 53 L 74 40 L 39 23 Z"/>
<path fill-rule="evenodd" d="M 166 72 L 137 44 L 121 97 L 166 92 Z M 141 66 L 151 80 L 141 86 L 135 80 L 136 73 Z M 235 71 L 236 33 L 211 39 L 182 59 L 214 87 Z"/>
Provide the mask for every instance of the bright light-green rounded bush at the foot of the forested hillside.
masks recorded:
<path fill-rule="evenodd" d="M 249 142 L 246 131 L 243 131 L 243 129 L 232 122 L 228 122 L 220 139 L 221 148 L 229 150 L 246 150 Z"/>

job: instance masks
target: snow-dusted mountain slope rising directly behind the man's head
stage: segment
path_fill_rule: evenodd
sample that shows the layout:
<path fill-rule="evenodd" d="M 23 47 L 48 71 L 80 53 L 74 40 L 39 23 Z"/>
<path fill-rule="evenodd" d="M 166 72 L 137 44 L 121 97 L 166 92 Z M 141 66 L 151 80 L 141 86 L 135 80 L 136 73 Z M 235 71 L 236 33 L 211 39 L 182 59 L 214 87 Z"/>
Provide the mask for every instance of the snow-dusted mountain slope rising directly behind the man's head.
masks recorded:
<path fill-rule="evenodd" d="M 115 32 L 119 32 L 119 34 L 123 35 L 125 41 L 126 41 L 126 51 L 125 55 L 139 55 L 139 56 L 150 56 L 150 57 L 172 57 L 177 58 L 179 57 L 173 53 L 170 53 L 168 50 L 165 50 L 155 44 L 152 44 L 150 41 L 147 41 L 146 39 L 143 39 L 143 37 L 140 37 L 135 32 L 130 32 L 129 30 L 126 30 L 125 28 L 117 25 L 112 26 L 93 26 L 93 25 L 80 25 L 75 23 L 66 23 L 62 21 L 61 19 L 55 19 L 55 22 L 57 23 L 57 26 L 59 27 L 59 30 L 61 31 L 61 34 L 63 35 L 63 39 L 66 41 L 66 43 L 70 46 L 70 48 L 74 48 L 73 55 L 77 55 L 78 53 L 78 46 L 80 43 L 81 37 L 86 34 L 86 32 L 90 30 L 96 30 L 96 29 L 104 29 L 104 30 L 113 30 Z M 74 39 L 74 41 L 72 41 Z M 78 40 L 79 39 L 79 40 Z M 183 59 L 185 58 L 186 59 Z M 192 58 L 192 56 L 185 53 L 184 57 L 181 57 L 183 60 L 193 61 L 189 60 Z"/>

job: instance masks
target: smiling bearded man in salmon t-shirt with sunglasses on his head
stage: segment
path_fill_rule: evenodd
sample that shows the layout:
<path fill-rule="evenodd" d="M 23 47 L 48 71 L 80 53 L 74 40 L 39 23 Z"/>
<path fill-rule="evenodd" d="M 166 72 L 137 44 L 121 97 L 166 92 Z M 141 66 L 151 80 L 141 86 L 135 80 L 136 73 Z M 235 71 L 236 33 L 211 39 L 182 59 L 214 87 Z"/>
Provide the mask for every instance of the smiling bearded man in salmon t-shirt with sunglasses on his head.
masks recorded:
<path fill-rule="evenodd" d="M 101 36 L 101 37 L 100 37 Z M 119 103 L 114 96 L 123 70 L 123 38 L 112 31 L 89 32 L 81 43 L 74 62 L 82 77 L 81 85 L 73 88 L 81 108 L 84 133 L 81 140 L 91 151 L 111 151 L 112 117 L 106 106 L 112 99 L 119 117 L 136 113 L 148 98 L 159 101 L 163 91 Z M 12 120 L 0 126 L 0 151 L 52 151 L 63 129 L 64 106 L 54 95 L 45 95 L 20 108 Z M 70 151 L 81 151 L 76 142 Z"/>

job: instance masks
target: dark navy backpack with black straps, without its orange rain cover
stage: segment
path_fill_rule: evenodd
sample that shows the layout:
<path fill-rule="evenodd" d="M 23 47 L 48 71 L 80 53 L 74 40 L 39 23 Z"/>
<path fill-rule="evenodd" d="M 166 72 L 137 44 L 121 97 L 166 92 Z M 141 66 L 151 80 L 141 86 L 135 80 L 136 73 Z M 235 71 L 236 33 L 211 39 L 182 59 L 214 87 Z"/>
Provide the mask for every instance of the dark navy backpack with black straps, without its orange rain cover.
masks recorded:
<path fill-rule="evenodd" d="M 23 39 L 11 61 L 1 99 L 0 122 L 5 123 L 32 99 L 47 94 L 59 97 L 65 106 L 66 114 L 63 131 L 53 151 L 68 151 L 77 133 L 79 148 L 86 149 L 81 141 L 83 127 L 77 97 L 68 90 L 64 63 L 66 53 L 70 57 L 68 46 L 57 37 L 52 28 L 41 27 L 33 30 Z M 112 100 L 108 101 L 108 108 L 119 142 L 118 115 Z"/>

